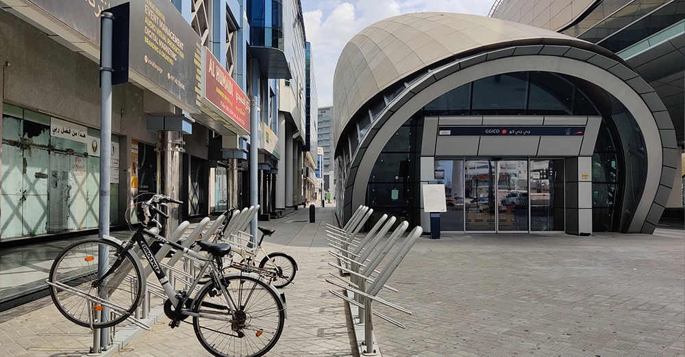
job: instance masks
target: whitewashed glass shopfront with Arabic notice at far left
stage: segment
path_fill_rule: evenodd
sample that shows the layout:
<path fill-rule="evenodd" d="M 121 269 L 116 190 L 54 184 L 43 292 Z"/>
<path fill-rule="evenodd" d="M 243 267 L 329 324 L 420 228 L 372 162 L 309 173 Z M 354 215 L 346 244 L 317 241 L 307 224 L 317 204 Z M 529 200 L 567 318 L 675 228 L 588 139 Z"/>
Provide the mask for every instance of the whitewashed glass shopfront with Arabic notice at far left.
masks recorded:
<path fill-rule="evenodd" d="M 49 116 L 8 104 L 3 111 L 2 238 L 97 228 L 100 158 L 84 140 L 51 135 Z M 119 224 L 118 172 L 112 176 L 110 220 Z"/>

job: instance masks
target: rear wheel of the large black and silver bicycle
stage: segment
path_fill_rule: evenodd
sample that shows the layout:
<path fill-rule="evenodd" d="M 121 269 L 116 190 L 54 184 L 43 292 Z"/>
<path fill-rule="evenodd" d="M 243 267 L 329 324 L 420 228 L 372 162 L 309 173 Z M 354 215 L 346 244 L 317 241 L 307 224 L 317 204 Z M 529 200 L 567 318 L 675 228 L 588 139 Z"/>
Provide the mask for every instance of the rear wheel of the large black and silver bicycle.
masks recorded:
<path fill-rule="evenodd" d="M 223 285 L 238 310 L 227 305 L 229 297 L 210 282 L 195 296 L 192 317 L 195 336 L 202 347 L 218 357 L 258 357 L 276 344 L 285 321 L 285 306 L 275 289 L 247 275 L 225 276 Z"/>

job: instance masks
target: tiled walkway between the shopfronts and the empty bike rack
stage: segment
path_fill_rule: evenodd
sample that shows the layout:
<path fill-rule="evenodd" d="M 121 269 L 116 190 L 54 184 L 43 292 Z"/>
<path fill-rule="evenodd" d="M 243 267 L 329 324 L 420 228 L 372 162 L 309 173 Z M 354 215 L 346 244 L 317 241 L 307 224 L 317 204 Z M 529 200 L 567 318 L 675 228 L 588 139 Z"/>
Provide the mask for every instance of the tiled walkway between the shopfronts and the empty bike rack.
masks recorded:
<path fill-rule="evenodd" d="M 308 209 L 260 222 L 277 230 L 264 239 L 266 250 L 288 252 L 299 265 L 294 282 L 282 289 L 288 319 L 268 356 L 351 356 L 343 304 L 328 293 L 324 280 L 329 272 L 325 223 L 334 223 L 334 209 L 318 207 L 316 223 L 309 223 Z M 210 356 L 197 341 L 192 325 L 182 323 L 171 330 L 168 323 L 163 317 L 114 356 Z M 0 313 L 0 356 L 82 356 L 90 345 L 92 332 L 62 317 L 49 297 Z"/>

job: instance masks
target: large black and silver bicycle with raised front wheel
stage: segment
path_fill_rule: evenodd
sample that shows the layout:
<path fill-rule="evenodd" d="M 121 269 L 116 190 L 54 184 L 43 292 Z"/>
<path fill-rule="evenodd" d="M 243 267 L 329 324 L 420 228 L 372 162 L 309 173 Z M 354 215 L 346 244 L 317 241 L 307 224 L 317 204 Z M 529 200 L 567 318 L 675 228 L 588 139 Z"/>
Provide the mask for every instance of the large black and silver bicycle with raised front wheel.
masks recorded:
<path fill-rule="evenodd" d="M 214 356 L 266 354 L 283 331 L 284 296 L 259 274 L 223 274 L 223 257 L 231 253 L 229 244 L 196 241 L 195 246 L 185 248 L 158 235 L 160 223 L 155 217 L 168 217 L 159 206 L 169 203 L 181 202 L 163 195 L 143 202 L 145 218 L 129 240 L 84 239 L 65 248 L 47 280 L 55 306 L 67 319 L 90 328 L 107 328 L 131 317 L 146 285 L 142 263 L 132 250 L 137 244 L 168 297 L 164 313 L 171 319 L 171 328 L 192 317 L 197 339 Z M 173 290 L 145 237 L 197 262 L 200 268 L 187 291 Z M 111 311 L 111 318 L 96 318 L 95 312 L 103 308 Z"/>

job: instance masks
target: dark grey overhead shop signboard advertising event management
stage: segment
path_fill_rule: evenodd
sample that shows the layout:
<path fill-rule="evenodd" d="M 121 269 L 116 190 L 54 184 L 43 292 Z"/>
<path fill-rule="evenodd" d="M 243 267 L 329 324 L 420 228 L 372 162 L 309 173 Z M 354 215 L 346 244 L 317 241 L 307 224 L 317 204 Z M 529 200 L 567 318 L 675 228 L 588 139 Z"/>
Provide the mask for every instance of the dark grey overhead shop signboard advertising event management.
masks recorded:
<path fill-rule="evenodd" d="M 129 3 L 129 73 L 155 94 L 191 114 L 200 112 L 200 38 L 169 0 L 18 0 L 14 10 L 49 29 L 77 33 L 87 42 L 73 44 L 96 55 L 100 14 Z M 42 10 L 49 16 L 45 16 Z M 29 10 L 27 10 L 29 9 Z M 56 27 L 55 27 L 56 26 Z M 59 31 L 55 31 L 58 32 Z M 61 35 L 60 35 L 61 36 Z M 84 48 L 86 47 L 86 48 Z"/>

